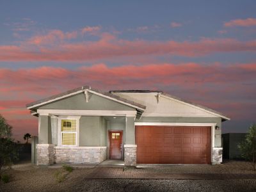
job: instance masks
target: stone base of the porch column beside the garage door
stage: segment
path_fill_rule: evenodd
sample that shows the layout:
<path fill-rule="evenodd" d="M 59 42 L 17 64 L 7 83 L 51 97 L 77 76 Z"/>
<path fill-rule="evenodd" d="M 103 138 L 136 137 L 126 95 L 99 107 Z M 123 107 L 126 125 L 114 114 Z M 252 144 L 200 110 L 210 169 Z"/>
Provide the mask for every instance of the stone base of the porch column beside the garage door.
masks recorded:
<path fill-rule="evenodd" d="M 136 166 L 137 145 L 124 145 L 124 165 Z"/>

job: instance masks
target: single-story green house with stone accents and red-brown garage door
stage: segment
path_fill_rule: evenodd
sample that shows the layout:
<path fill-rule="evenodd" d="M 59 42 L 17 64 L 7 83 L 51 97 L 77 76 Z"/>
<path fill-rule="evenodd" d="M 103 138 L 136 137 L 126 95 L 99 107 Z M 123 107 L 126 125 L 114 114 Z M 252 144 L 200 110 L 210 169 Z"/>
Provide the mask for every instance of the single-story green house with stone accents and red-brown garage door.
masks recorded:
<path fill-rule="evenodd" d="M 38 165 L 218 164 L 227 116 L 160 91 L 82 86 L 27 105 L 38 116 Z"/>

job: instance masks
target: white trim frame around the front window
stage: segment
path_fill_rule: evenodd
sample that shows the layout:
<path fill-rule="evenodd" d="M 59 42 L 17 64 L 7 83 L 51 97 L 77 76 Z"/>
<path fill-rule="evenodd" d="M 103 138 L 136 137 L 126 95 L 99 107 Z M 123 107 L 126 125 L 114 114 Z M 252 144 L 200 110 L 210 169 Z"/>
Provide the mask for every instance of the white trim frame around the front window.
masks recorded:
<path fill-rule="evenodd" d="M 58 146 L 65 146 L 65 147 L 78 147 L 79 146 L 79 122 L 81 116 L 59 116 L 58 117 L 58 132 L 59 132 L 59 139 L 58 139 Z M 75 131 L 61 131 L 61 120 L 76 120 L 76 145 L 62 145 L 62 132 L 75 132 Z"/>

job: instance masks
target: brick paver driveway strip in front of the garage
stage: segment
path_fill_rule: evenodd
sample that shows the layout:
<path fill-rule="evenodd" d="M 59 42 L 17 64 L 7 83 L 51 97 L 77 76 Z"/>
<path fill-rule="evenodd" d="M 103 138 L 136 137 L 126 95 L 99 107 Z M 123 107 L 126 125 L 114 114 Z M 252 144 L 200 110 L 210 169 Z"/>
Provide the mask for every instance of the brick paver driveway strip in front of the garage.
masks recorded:
<path fill-rule="evenodd" d="M 136 168 L 95 167 L 85 179 L 188 179 L 227 180 L 256 179 L 256 173 L 151 173 Z"/>

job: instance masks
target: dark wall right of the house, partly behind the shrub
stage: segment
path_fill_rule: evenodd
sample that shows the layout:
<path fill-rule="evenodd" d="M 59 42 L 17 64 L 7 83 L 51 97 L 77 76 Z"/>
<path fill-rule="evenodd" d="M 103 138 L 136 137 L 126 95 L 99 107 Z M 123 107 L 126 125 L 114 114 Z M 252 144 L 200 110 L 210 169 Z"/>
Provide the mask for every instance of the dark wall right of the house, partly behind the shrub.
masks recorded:
<path fill-rule="evenodd" d="M 243 159 L 242 153 L 237 147 L 245 141 L 246 133 L 230 132 L 221 134 L 223 146 L 223 159 Z"/>

